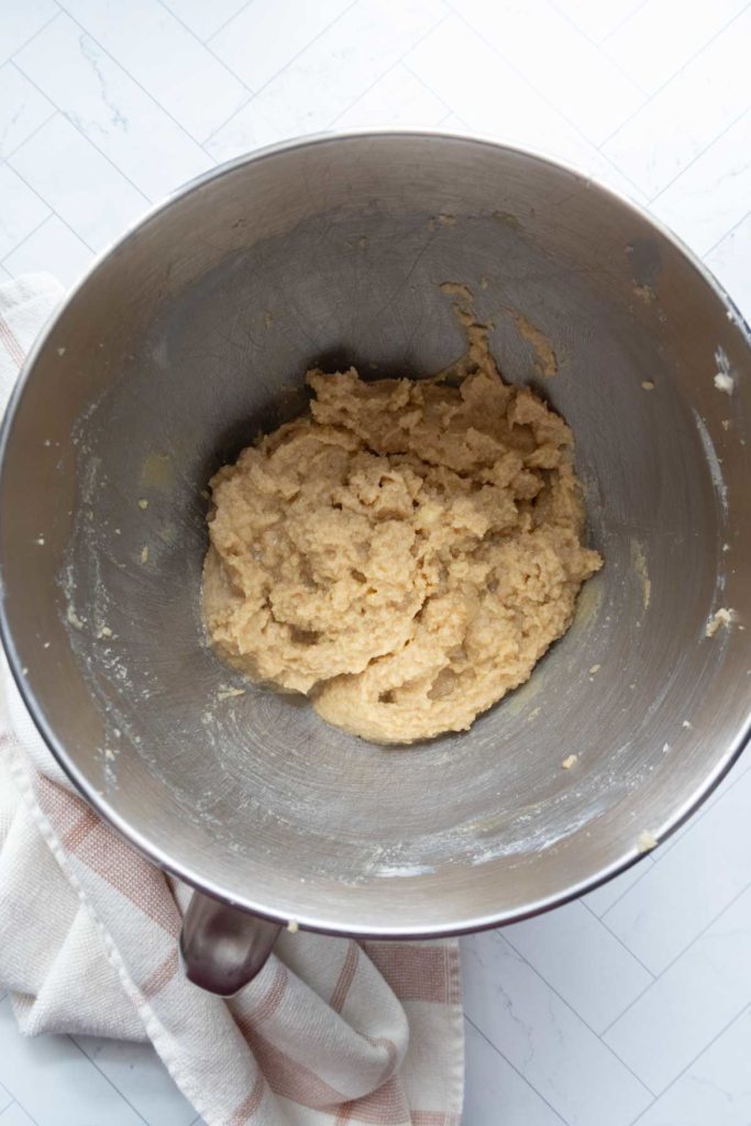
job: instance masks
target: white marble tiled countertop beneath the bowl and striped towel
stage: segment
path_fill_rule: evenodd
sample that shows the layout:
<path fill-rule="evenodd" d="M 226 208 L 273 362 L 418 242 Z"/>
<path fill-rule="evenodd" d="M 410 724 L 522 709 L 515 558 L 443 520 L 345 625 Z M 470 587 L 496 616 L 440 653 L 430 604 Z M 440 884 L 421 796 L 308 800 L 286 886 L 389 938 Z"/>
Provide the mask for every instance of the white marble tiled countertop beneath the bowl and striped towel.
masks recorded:
<path fill-rule="evenodd" d="M 3 0 L 0 280 L 73 282 L 247 149 L 429 125 L 592 171 L 751 316 L 750 47 L 746 0 Z M 751 1124 L 749 767 L 624 876 L 464 940 L 464 1126 Z M 0 1126 L 195 1121 L 149 1047 L 25 1040 L 0 995 Z"/>

